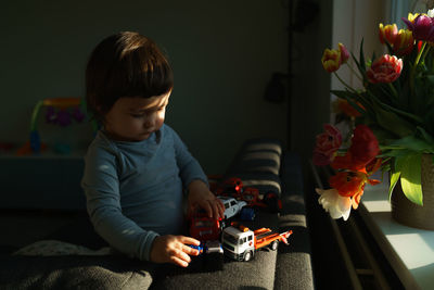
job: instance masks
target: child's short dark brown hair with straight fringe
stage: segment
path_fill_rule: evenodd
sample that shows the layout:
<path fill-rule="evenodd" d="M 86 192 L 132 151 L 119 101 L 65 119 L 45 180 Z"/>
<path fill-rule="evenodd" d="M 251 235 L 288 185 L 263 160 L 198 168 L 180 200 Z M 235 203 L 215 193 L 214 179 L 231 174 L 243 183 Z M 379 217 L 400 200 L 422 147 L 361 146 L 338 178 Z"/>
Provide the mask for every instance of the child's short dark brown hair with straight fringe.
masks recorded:
<path fill-rule="evenodd" d="M 122 31 L 103 39 L 86 67 L 86 100 L 97 121 L 123 97 L 150 98 L 174 87 L 171 67 L 151 39 Z"/>

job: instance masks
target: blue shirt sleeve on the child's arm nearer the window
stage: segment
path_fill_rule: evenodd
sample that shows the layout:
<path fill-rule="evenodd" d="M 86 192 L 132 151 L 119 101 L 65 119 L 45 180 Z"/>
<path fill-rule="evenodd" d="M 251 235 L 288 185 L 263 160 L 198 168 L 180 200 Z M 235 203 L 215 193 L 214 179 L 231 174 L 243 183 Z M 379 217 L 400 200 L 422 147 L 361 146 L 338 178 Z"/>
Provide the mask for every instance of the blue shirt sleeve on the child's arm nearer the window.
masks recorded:
<path fill-rule="evenodd" d="M 167 126 L 167 128 L 169 128 Z M 197 160 L 191 155 L 187 146 L 182 142 L 178 134 L 169 128 L 171 135 L 174 136 L 174 147 L 177 160 L 177 165 L 180 172 L 180 177 L 184 187 L 191 184 L 191 181 L 200 179 L 208 185 L 208 178 L 206 177 L 204 171 L 199 164 Z"/>

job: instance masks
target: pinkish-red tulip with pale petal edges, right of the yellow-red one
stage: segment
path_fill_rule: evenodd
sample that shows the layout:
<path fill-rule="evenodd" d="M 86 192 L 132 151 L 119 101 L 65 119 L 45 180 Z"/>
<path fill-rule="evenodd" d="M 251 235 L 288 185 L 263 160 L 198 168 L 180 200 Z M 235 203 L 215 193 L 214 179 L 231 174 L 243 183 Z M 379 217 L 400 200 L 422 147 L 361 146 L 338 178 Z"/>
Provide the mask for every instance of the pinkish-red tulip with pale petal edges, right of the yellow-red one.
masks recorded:
<path fill-rule="evenodd" d="M 372 84 L 393 83 L 403 71 L 403 60 L 395 55 L 384 54 L 375 60 L 367 71 L 368 80 Z"/>

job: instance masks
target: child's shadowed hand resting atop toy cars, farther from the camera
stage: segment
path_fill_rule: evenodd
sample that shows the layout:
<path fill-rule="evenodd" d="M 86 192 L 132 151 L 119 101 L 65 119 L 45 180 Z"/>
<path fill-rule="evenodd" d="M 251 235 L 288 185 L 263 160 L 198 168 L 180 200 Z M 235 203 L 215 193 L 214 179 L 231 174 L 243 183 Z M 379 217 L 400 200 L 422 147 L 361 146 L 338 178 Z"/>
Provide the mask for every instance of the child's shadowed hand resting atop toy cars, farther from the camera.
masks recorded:
<path fill-rule="evenodd" d="M 216 198 L 202 180 L 193 180 L 189 185 L 189 213 L 194 213 L 197 207 L 206 211 L 209 217 L 225 218 L 225 205 Z"/>

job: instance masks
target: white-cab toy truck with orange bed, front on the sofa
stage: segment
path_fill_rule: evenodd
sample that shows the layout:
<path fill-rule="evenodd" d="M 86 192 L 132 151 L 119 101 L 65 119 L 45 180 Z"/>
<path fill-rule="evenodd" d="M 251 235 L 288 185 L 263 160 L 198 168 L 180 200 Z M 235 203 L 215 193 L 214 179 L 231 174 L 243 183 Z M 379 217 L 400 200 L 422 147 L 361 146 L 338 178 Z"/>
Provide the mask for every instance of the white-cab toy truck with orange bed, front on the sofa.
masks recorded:
<path fill-rule="evenodd" d="M 279 242 L 288 244 L 291 235 L 292 230 L 279 234 L 269 228 L 251 230 L 234 224 L 224 229 L 221 243 L 226 255 L 238 261 L 250 261 L 260 248 L 270 245 L 276 251 Z"/>

